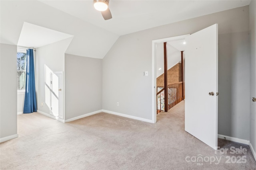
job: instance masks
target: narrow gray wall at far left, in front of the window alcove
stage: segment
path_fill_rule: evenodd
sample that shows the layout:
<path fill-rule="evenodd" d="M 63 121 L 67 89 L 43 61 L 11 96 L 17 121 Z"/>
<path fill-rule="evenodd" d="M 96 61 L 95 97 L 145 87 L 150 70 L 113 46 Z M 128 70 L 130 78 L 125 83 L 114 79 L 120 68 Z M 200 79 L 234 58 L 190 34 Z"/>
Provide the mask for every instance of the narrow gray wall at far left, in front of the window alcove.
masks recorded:
<path fill-rule="evenodd" d="M 17 134 L 17 46 L 0 44 L 0 138 Z"/>

